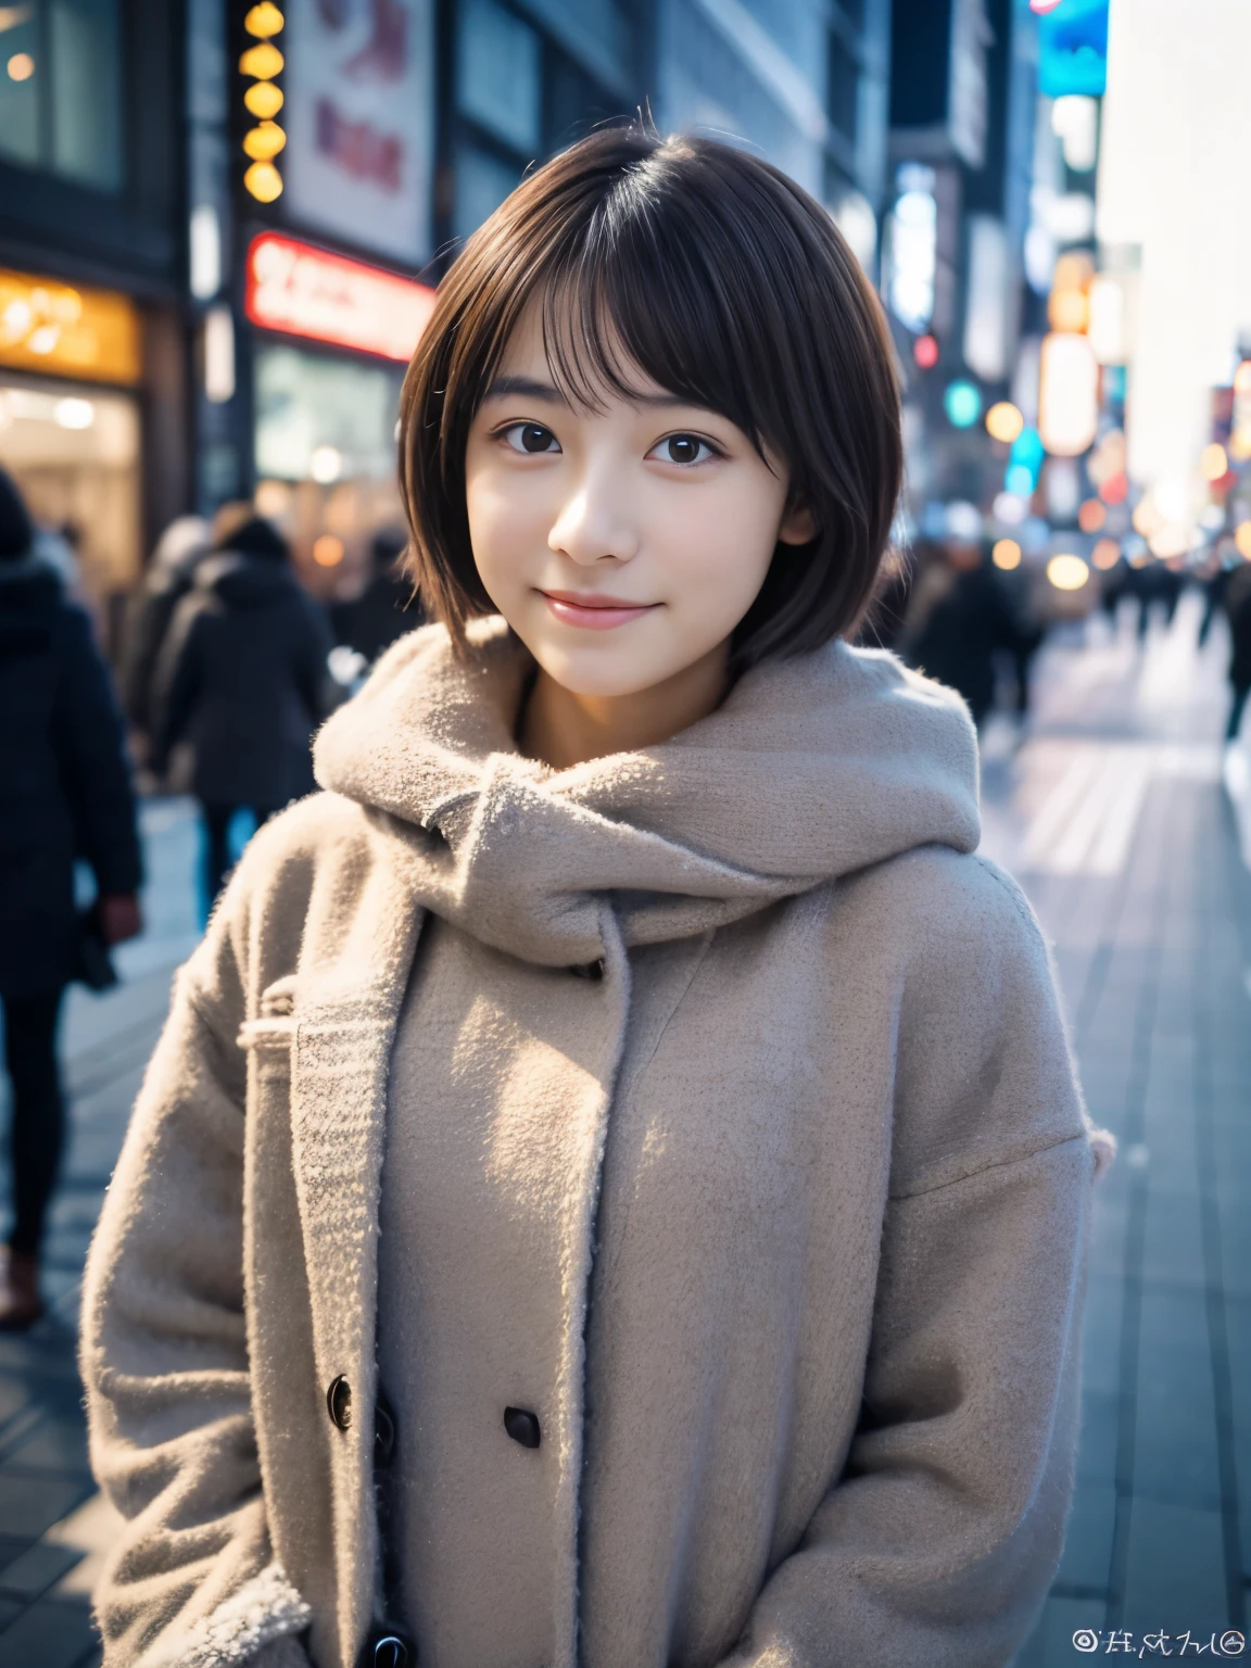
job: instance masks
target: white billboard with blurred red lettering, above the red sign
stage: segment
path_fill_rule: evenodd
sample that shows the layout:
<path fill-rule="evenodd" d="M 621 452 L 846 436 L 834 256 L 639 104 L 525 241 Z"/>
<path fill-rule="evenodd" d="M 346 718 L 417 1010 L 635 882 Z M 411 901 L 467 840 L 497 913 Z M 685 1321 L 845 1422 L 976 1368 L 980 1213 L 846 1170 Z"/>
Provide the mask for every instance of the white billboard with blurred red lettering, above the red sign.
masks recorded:
<path fill-rule="evenodd" d="M 434 0 L 289 0 L 292 220 L 407 265 L 432 254 Z"/>

